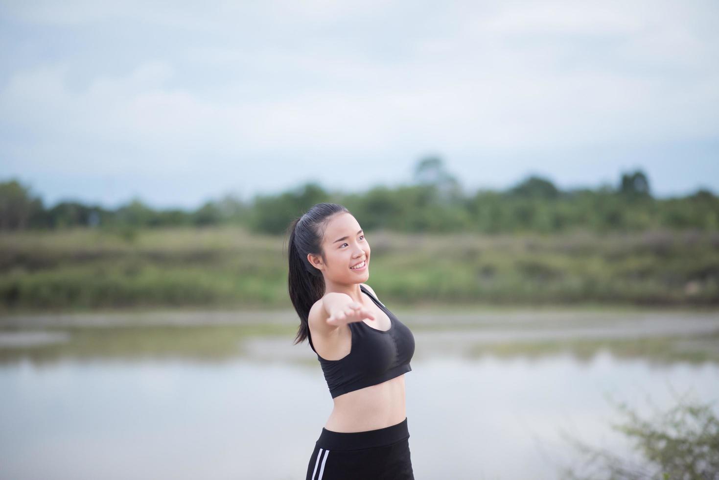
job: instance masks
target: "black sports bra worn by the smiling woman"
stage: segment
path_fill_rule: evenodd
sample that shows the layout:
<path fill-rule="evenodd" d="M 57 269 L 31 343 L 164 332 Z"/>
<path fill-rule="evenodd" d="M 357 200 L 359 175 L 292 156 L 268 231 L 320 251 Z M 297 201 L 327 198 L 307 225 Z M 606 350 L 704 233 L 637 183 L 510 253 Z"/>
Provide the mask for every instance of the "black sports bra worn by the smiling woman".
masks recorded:
<path fill-rule="evenodd" d="M 414 336 L 411 330 L 364 286 L 360 285 L 359 289 L 390 318 L 391 326 L 388 330 L 377 330 L 364 321 L 348 323 L 352 332 L 352 348 L 339 360 L 325 360 L 319 356 L 309 332 L 307 335 L 310 347 L 317 353 L 333 399 L 412 371 L 409 362 L 414 355 Z"/>

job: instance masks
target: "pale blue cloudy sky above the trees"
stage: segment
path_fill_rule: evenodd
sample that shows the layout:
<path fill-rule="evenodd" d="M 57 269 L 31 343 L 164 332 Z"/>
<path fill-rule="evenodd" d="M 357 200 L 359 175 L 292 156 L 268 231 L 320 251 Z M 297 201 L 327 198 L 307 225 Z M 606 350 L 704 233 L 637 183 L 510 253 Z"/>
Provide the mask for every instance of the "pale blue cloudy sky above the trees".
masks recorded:
<path fill-rule="evenodd" d="M 641 169 L 719 193 L 719 3 L 0 0 L 0 181 L 194 208 Z"/>

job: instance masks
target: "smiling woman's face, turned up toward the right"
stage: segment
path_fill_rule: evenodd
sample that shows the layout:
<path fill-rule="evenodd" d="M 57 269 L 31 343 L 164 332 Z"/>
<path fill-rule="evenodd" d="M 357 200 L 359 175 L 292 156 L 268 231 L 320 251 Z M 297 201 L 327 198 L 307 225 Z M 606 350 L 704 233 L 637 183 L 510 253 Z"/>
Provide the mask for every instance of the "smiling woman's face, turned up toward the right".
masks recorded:
<path fill-rule="evenodd" d="M 313 266 L 324 273 L 325 279 L 337 284 L 362 284 L 370 278 L 370 244 L 362 227 L 352 214 L 334 215 L 324 232 L 322 243 L 324 261 L 319 255 L 308 255 Z M 365 261 L 364 266 L 352 266 Z"/>

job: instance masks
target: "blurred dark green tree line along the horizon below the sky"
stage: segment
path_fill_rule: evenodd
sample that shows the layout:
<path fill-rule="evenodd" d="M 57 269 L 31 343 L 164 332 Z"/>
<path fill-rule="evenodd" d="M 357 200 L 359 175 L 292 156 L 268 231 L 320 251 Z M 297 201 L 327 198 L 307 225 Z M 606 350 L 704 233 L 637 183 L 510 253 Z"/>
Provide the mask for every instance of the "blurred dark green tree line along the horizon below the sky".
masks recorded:
<path fill-rule="evenodd" d="M 669 199 L 651 194 L 641 170 L 621 173 L 616 185 L 559 189 L 531 175 L 503 191 L 465 192 L 441 158 L 418 161 L 413 181 L 375 186 L 362 193 L 329 191 L 309 182 L 272 195 L 242 201 L 233 195 L 197 209 L 153 209 L 132 199 L 116 209 L 81 201 L 45 206 L 29 186 L 15 178 L 0 182 L 0 230 L 53 230 L 66 227 L 152 228 L 244 225 L 259 233 L 281 234 L 293 217 L 313 204 L 344 204 L 367 230 L 400 232 L 595 232 L 651 228 L 719 230 L 719 197 L 707 189 Z"/>

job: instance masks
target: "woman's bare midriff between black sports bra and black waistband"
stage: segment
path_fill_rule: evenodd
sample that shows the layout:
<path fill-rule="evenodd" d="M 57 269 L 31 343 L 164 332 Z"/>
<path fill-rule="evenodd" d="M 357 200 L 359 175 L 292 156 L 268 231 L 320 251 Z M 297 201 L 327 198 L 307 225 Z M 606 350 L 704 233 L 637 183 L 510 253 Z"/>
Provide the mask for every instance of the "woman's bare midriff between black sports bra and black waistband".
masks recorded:
<path fill-rule="evenodd" d="M 364 432 L 390 427 L 406 417 L 404 374 L 334 397 L 324 427 L 333 432 Z"/>

